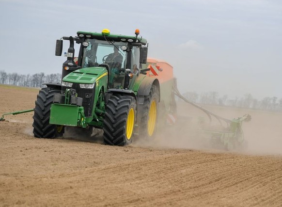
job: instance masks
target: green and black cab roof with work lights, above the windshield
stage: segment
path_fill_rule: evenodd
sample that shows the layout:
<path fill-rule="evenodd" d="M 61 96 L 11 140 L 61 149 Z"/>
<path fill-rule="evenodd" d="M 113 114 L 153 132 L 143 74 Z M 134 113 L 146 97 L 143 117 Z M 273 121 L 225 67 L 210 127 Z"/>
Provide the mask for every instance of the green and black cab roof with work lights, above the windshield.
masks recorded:
<path fill-rule="evenodd" d="M 133 43 L 141 43 L 142 45 L 147 44 L 147 40 L 136 36 L 127 36 L 122 34 L 103 34 L 102 32 L 77 32 L 78 37 L 88 37 L 90 39 L 97 39 L 97 40 L 105 40 L 105 37 L 109 41 L 115 41 L 115 42 L 133 42 Z"/>

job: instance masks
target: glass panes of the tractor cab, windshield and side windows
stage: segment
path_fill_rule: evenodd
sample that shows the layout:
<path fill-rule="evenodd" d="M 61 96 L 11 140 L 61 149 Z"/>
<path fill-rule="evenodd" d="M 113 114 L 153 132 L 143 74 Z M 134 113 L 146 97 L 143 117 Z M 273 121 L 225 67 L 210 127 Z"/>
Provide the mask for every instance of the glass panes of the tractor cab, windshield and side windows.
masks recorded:
<path fill-rule="evenodd" d="M 109 88 L 123 87 L 126 68 L 129 68 L 134 76 L 139 72 L 139 48 L 132 48 L 129 65 L 126 64 L 129 54 L 121 49 L 122 46 L 128 47 L 127 43 L 111 43 L 96 39 L 87 39 L 86 42 L 89 43 L 89 46 L 83 48 L 81 67 L 106 64 L 109 67 Z M 135 80 L 135 77 L 133 79 Z"/>

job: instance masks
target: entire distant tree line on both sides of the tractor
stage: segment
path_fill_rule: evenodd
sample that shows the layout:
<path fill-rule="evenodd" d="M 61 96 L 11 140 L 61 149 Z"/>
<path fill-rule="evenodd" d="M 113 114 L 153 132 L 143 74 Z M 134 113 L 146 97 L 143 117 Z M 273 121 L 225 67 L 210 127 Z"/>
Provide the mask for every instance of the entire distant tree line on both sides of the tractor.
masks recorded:
<path fill-rule="evenodd" d="M 25 87 L 41 88 L 44 82 L 61 82 L 62 74 L 44 74 L 35 73 L 33 75 L 22 75 L 18 73 L 6 73 L 0 70 L 0 84 L 9 84 Z M 268 111 L 282 111 L 282 98 L 264 97 L 261 100 L 254 98 L 251 94 L 245 94 L 243 97 L 229 99 L 227 95 L 219 96 L 218 92 L 187 92 L 183 94 L 188 100 L 198 104 L 220 105 L 239 107 L 245 109 L 260 109 Z"/>

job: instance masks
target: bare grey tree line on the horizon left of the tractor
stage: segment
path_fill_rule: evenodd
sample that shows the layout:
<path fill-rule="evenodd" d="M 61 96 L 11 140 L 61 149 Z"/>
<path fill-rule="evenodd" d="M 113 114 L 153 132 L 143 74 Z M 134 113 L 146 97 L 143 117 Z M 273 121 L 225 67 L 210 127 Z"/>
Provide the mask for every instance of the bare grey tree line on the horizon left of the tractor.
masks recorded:
<path fill-rule="evenodd" d="M 9 84 L 25 87 L 35 87 L 41 88 L 42 83 L 44 82 L 61 82 L 62 74 L 44 74 L 44 73 L 35 73 L 33 75 L 18 74 L 18 73 L 6 73 L 3 70 L 0 70 L 0 84 Z"/>

